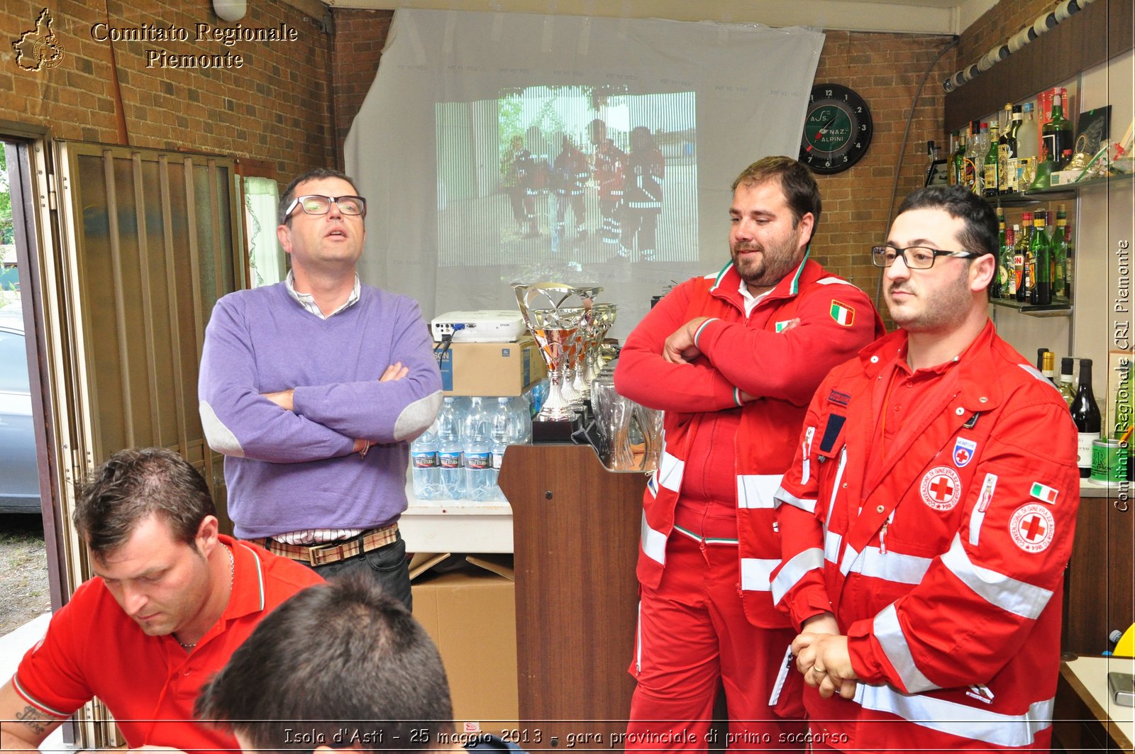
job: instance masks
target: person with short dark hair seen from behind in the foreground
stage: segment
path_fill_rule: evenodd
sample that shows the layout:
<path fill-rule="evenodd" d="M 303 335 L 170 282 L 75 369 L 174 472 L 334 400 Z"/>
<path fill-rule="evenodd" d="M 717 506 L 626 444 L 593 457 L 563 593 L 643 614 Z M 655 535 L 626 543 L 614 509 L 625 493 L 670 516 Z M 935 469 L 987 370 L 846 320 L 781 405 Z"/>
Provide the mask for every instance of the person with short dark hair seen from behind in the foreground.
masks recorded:
<path fill-rule="evenodd" d="M 348 575 L 266 618 L 202 690 L 245 752 L 460 748 L 437 647 L 397 600 Z M 468 748 L 519 751 L 488 735 Z"/>

